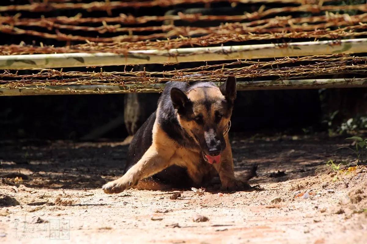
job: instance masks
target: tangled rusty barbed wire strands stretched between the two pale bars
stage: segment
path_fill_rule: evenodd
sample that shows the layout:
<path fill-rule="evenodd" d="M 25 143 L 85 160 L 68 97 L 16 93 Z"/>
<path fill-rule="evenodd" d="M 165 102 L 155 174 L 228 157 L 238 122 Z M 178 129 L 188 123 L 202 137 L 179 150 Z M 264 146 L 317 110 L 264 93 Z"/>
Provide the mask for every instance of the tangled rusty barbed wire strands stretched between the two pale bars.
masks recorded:
<path fill-rule="evenodd" d="M 259 77 L 279 77 L 280 79 L 294 79 L 304 77 L 316 77 L 320 75 L 335 75 L 335 74 L 364 74 L 367 71 L 366 57 L 353 58 L 349 61 L 322 62 L 309 65 L 299 65 L 296 67 L 277 67 L 277 68 L 252 68 L 252 69 L 225 69 L 201 72 L 196 76 L 175 76 L 175 77 L 155 77 L 151 75 L 139 76 L 122 76 L 109 73 L 108 75 L 101 73 L 86 74 L 81 72 L 79 77 L 64 78 L 63 72 L 52 72 L 52 75 L 57 75 L 61 79 L 33 79 L 29 76 L 15 74 L 11 76 L 17 80 L 1 80 L 0 88 L 15 89 L 17 87 L 26 86 L 64 86 L 64 85 L 127 85 L 136 84 L 144 86 L 147 84 L 163 83 L 167 81 L 190 82 L 193 80 L 204 80 L 218 82 L 222 79 L 231 76 L 236 78 L 254 79 Z M 9 75 L 9 72 L 4 72 L 2 76 Z M 77 73 L 73 73 L 77 74 Z M 47 74 L 46 74 L 47 76 Z M 7 76 L 8 77 L 8 76 Z M 55 77 L 51 77 L 55 78 Z"/>

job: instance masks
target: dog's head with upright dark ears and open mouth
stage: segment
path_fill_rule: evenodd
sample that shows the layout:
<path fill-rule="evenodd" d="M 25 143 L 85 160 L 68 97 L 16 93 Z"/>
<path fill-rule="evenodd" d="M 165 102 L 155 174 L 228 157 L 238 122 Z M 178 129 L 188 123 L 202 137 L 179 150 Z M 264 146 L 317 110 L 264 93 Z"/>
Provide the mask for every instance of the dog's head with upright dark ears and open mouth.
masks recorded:
<path fill-rule="evenodd" d="M 171 89 L 171 100 L 181 127 L 196 141 L 210 164 L 220 160 L 226 148 L 224 133 L 228 130 L 236 99 L 236 79 L 229 77 L 219 88 L 200 83 L 186 93 Z"/>

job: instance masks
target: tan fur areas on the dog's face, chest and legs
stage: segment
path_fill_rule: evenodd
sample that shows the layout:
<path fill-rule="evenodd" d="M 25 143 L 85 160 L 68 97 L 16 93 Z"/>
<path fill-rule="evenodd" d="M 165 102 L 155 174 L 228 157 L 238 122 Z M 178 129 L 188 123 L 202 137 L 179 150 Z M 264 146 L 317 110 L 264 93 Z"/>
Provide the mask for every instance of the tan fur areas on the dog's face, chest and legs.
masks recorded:
<path fill-rule="evenodd" d="M 193 111 L 195 115 L 201 114 L 206 120 L 214 121 L 215 111 L 221 110 L 221 104 L 214 102 L 210 109 L 200 103 L 208 96 L 213 101 L 225 99 L 218 87 L 197 87 L 190 90 L 187 97 L 193 102 Z M 161 108 L 157 108 L 157 113 Z M 117 180 L 110 181 L 103 186 L 106 193 L 118 193 L 127 188 L 138 189 L 164 189 L 169 186 L 160 184 L 150 176 L 166 169 L 171 165 L 178 165 L 187 168 L 187 172 L 196 186 L 200 187 L 206 179 L 211 179 L 216 174 L 222 183 L 222 187 L 234 189 L 243 187 L 244 182 L 235 178 L 233 172 L 232 150 L 228 134 L 225 135 L 226 148 L 221 152 L 221 160 L 217 164 L 208 164 L 203 160 L 203 155 L 199 149 L 182 147 L 175 140 L 171 139 L 157 122 L 153 126 L 153 142 L 143 157 L 132 166 L 124 176 Z M 223 133 L 226 128 L 229 117 L 223 117 L 218 125 L 218 130 Z M 178 115 L 179 124 L 183 129 L 192 134 L 192 131 L 200 130 L 202 127 L 195 121 L 183 120 Z M 195 138 L 194 136 L 192 136 Z M 144 180 L 145 179 L 145 180 Z"/>

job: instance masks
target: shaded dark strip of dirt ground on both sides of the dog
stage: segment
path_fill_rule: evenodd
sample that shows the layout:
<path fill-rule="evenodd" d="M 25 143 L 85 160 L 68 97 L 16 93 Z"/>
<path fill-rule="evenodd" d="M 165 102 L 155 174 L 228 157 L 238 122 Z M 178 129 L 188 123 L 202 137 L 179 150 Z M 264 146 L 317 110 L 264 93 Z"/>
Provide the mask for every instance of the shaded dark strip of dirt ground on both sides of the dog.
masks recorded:
<path fill-rule="evenodd" d="M 312 176 L 336 155 L 352 159 L 344 138 L 312 136 L 232 137 L 236 174 L 258 164 L 250 184 L 279 182 Z M 0 177 L 6 184 L 51 189 L 99 188 L 123 174 L 127 147 L 121 142 L 3 141 Z M 20 174 L 19 174 L 20 173 Z M 21 181 L 15 179 L 22 177 Z"/>

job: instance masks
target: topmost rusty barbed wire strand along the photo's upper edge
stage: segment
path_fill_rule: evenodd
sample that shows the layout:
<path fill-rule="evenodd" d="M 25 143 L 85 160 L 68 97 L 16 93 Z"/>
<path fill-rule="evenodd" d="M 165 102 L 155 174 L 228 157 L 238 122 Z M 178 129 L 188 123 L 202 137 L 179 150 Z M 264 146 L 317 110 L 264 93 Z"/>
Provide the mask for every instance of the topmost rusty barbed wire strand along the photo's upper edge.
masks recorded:
<path fill-rule="evenodd" d="M 323 6 L 323 2 L 330 2 L 330 0 L 152 0 L 152 1 L 131 1 L 131 2 L 123 2 L 123 1 L 104 1 L 104 2 L 91 2 L 91 3 L 31 3 L 24 5 L 8 5 L 1 6 L 0 12 L 6 11 L 31 11 L 31 12 L 49 12 L 54 10 L 87 10 L 87 11 L 106 11 L 110 14 L 111 10 L 115 10 L 118 8 L 142 8 L 142 7 L 169 7 L 178 4 L 211 4 L 216 2 L 228 1 L 232 4 L 237 3 L 295 3 L 302 4 L 303 6 L 313 6 L 311 9 L 313 11 L 329 11 L 334 10 L 335 8 L 330 7 L 332 5 Z M 318 3 L 318 4 L 315 4 Z M 346 5 L 348 6 L 348 5 Z M 324 8 L 325 7 L 325 8 Z M 355 10 L 356 8 L 348 8 L 345 6 L 334 6 L 339 7 L 338 10 Z M 363 8 L 362 8 L 363 9 Z M 291 7 L 290 7 L 291 10 Z M 357 8 L 357 10 L 360 10 Z M 297 10 L 292 10 L 297 11 Z M 304 11 L 304 8 L 300 8 L 299 11 Z M 265 12 L 265 11 L 264 11 Z"/>

